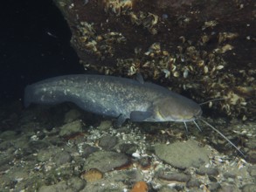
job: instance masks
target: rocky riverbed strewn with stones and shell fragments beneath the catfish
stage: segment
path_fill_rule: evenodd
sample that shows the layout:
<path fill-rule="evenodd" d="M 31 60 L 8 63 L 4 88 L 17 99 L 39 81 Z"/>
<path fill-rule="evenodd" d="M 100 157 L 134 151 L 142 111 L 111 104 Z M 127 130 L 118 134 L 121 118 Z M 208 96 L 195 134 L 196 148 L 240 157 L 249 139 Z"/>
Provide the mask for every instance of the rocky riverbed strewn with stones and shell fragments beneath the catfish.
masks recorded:
<path fill-rule="evenodd" d="M 173 122 L 116 128 L 72 104 L 2 106 L 1 191 L 256 189 L 254 122 L 206 119 L 249 155 L 245 160 L 203 125 L 203 132 L 189 125 L 187 134 Z"/>

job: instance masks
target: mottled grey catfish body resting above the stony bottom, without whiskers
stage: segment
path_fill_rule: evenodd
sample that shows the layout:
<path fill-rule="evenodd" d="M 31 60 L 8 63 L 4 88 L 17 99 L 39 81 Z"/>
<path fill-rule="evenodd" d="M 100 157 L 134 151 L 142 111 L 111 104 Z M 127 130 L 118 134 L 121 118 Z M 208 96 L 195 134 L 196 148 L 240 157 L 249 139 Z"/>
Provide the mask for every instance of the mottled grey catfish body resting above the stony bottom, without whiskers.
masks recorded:
<path fill-rule="evenodd" d="M 201 107 L 163 86 L 104 75 L 66 75 L 27 86 L 24 106 L 73 102 L 85 111 L 132 121 L 191 121 Z"/>

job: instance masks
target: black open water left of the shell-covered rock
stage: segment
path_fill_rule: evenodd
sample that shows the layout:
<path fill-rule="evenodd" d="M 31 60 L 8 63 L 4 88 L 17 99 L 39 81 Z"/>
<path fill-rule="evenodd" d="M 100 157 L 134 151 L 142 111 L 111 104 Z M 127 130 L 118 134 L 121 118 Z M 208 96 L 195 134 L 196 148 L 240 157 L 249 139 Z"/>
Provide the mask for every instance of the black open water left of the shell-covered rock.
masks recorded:
<path fill-rule="evenodd" d="M 24 86 L 39 79 L 82 72 L 66 20 L 51 0 L 10 0 L 1 7 L 1 100 L 21 99 Z"/>

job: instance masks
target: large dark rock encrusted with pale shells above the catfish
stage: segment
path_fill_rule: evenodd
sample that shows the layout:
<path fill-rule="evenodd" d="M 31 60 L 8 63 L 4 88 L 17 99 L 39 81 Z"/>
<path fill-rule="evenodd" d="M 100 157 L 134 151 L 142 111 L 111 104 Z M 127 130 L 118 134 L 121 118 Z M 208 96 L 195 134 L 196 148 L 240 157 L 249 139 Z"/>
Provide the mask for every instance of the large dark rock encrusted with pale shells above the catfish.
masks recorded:
<path fill-rule="evenodd" d="M 218 113 L 255 119 L 253 1 L 55 3 L 86 70 L 121 76 L 140 72 L 197 102 L 222 98 L 213 105 Z"/>

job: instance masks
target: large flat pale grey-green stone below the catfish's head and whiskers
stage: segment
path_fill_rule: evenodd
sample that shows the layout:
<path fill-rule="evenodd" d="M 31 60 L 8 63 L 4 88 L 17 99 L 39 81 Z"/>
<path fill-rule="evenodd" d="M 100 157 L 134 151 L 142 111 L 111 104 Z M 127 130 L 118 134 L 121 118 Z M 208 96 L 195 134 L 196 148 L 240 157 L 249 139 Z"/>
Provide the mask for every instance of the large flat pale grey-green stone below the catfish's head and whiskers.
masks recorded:
<path fill-rule="evenodd" d="M 209 161 L 210 150 L 206 147 L 199 147 L 197 141 L 175 142 L 170 145 L 157 145 L 156 155 L 175 168 L 199 168 Z"/>

